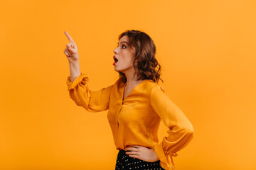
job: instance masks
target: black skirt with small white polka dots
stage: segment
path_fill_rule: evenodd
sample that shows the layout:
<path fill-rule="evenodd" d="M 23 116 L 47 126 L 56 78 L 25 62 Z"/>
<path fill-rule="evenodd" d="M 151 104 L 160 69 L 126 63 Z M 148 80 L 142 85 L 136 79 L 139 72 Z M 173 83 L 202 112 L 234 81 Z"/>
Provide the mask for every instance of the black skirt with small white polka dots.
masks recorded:
<path fill-rule="evenodd" d="M 160 161 L 145 162 L 141 159 L 129 157 L 124 150 L 119 150 L 115 170 L 121 169 L 140 169 L 140 170 L 164 170 L 160 166 Z"/>

